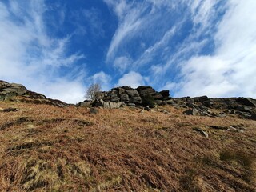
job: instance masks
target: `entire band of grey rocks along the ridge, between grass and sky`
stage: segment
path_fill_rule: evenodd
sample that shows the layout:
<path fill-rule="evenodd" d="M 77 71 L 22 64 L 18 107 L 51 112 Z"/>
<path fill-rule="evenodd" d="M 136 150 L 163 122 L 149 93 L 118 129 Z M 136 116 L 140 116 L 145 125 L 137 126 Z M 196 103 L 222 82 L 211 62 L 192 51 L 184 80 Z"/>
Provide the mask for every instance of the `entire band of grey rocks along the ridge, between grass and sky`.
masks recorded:
<path fill-rule="evenodd" d="M 65 102 L 46 98 L 43 94 L 27 90 L 21 84 L 0 81 L 0 101 L 6 100 L 54 106 L 68 105 Z M 183 114 L 185 115 L 209 117 L 235 115 L 240 118 L 256 120 L 256 100 L 253 98 L 208 98 L 207 96 L 170 98 L 169 90 L 158 92 L 151 86 L 139 86 L 137 89 L 133 89 L 130 86 L 116 87 L 110 91 L 98 92 L 97 99 L 94 102 L 80 102 L 76 106 L 101 106 L 106 109 L 137 106 L 150 110 L 150 107 L 154 107 L 152 103 L 157 106 L 174 106 L 184 110 Z M 217 113 L 216 110 L 219 112 Z"/>

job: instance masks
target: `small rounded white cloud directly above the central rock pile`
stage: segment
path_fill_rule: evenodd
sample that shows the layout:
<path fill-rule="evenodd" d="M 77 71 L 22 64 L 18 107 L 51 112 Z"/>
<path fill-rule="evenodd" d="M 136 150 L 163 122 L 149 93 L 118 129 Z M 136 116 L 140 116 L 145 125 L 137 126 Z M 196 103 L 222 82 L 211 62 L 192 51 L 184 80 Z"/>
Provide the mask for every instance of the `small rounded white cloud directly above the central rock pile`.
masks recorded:
<path fill-rule="evenodd" d="M 145 78 L 141 74 L 130 71 L 128 74 L 124 74 L 122 78 L 118 80 L 118 85 L 116 86 L 131 86 L 137 88 L 138 86 L 145 85 Z"/>

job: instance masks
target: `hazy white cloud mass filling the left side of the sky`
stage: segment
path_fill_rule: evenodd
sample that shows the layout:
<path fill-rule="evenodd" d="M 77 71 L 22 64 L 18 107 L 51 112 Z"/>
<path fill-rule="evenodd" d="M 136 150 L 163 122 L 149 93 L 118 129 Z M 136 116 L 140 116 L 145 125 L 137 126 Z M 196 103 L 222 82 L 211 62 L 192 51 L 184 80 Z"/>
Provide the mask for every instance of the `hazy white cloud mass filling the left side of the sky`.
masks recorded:
<path fill-rule="evenodd" d="M 84 56 L 66 54 L 70 36 L 50 38 L 46 11 L 43 0 L 0 2 L 0 78 L 64 102 L 82 101 L 85 73 L 70 78 L 58 71 L 70 67 L 72 74 L 73 64 Z"/>

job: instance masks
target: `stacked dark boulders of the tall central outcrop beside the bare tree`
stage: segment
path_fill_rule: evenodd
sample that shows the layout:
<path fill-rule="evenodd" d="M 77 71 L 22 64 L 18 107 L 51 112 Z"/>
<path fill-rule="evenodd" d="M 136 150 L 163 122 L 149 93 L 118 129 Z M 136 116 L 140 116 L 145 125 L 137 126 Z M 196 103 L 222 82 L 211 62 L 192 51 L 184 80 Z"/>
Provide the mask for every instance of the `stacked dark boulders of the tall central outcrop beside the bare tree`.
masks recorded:
<path fill-rule="evenodd" d="M 157 92 L 151 86 L 139 86 L 133 89 L 130 86 L 122 86 L 114 88 L 107 92 L 99 92 L 98 100 L 102 99 L 104 102 L 123 102 L 127 105 L 141 105 L 142 99 L 150 95 L 154 100 L 169 99 L 169 90 Z"/>

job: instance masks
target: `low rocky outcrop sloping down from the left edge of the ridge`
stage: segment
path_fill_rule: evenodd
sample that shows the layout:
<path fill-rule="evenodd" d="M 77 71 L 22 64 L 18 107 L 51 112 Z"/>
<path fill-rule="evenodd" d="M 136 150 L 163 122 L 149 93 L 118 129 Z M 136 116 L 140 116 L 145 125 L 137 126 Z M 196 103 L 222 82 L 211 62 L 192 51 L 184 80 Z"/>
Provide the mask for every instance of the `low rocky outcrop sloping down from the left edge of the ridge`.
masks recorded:
<path fill-rule="evenodd" d="M 38 94 L 27 90 L 25 86 L 17 83 L 9 83 L 0 80 L 0 101 L 32 102 L 35 104 L 46 104 L 53 106 L 68 106 L 65 102 L 57 99 L 46 98 L 43 94 Z"/>

